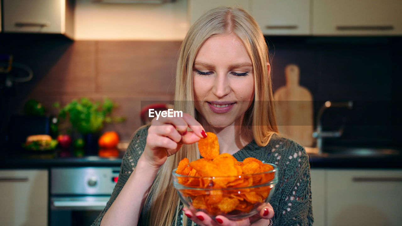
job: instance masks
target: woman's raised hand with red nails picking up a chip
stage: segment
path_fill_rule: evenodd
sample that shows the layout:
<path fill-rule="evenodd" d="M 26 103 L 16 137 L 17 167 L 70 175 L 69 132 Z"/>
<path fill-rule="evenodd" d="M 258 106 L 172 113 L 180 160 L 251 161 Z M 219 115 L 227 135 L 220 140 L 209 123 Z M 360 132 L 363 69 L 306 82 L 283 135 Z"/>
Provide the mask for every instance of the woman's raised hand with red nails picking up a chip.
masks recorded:
<path fill-rule="evenodd" d="M 187 131 L 187 128 L 193 131 Z M 168 156 L 176 154 L 183 144 L 193 144 L 207 135 L 201 124 L 191 115 L 183 117 L 156 117 L 148 128 L 143 156 L 149 164 L 159 168 Z"/>

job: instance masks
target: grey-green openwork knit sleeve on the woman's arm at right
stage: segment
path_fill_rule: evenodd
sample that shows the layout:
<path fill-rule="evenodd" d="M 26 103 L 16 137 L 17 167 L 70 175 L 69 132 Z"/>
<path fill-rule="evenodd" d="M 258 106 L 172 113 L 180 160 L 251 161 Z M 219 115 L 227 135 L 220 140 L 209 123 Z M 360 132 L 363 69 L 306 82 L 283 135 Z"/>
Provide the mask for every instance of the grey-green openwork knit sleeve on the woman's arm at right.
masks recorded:
<path fill-rule="evenodd" d="M 275 187 L 279 200 L 273 225 L 312 226 L 314 218 L 308 155 L 303 146 L 291 140 L 287 145 L 278 162 L 282 173 Z"/>

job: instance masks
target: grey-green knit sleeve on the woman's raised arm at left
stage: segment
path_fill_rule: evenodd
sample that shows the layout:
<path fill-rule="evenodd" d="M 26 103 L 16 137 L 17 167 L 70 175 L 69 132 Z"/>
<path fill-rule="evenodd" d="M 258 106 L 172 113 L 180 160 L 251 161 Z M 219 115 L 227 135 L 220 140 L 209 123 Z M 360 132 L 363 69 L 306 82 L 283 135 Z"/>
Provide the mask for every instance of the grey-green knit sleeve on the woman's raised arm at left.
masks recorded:
<path fill-rule="evenodd" d="M 96 218 L 91 226 L 100 225 L 103 216 L 105 215 L 107 210 L 109 210 L 110 206 L 117 198 L 117 195 L 119 195 L 121 189 L 123 189 L 123 186 L 131 175 L 131 172 L 133 172 L 135 166 L 137 165 L 139 157 L 144 151 L 147 135 L 148 126 L 144 126 L 138 129 L 137 133 L 133 136 L 133 139 L 131 140 L 127 151 L 125 152 L 121 161 L 119 179 L 117 180 L 116 186 L 113 189 L 113 193 L 109 201 L 107 202 L 105 209 L 103 209 L 103 211 L 99 214 L 99 216 Z"/>

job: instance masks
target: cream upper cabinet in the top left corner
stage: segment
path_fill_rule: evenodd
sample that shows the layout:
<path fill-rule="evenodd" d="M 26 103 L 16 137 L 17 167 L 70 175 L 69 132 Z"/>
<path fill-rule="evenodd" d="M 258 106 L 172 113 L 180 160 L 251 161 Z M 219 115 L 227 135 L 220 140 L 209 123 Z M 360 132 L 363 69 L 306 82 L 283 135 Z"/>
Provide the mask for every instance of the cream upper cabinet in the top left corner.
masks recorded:
<path fill-rule="evenodd" d="M 3 32 L 74 37 L 72 0 L 3 0 Z"/>

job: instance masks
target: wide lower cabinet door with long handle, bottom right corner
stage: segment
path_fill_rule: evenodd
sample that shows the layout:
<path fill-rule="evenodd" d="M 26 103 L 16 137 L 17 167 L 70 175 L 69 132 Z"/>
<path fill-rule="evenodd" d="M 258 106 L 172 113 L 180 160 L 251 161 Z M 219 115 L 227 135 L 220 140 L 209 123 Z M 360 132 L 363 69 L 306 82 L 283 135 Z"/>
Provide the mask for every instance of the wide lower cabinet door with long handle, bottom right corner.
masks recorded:
<path fill-rule="evenodd" d="M 402 170 L 328 170 L 327 226 L 402 222 Z"/>

